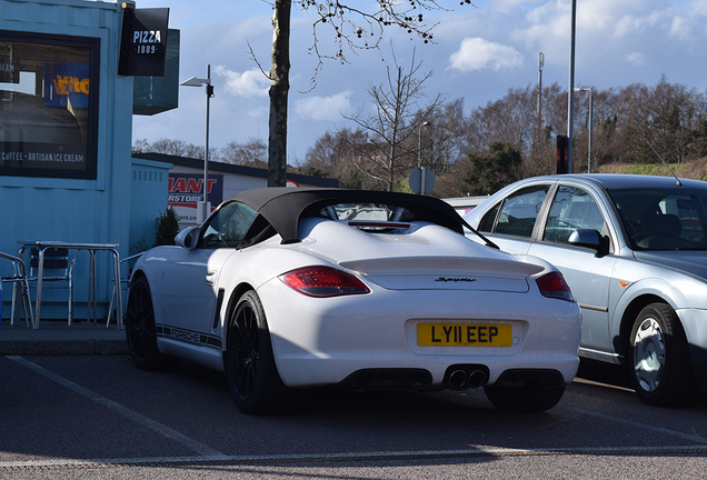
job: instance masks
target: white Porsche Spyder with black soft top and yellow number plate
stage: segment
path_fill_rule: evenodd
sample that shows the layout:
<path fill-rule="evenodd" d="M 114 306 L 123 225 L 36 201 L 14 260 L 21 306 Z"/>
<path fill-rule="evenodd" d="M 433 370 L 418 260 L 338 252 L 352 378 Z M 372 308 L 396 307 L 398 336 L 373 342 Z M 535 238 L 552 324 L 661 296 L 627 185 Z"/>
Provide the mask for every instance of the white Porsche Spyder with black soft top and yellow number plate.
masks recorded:
<path fill-rule="evenodd" d="M 243 191 L 138 260 L 131 359 L 225 371 L 246 413 L 312 387 L 484 387 L 499 409 L 550 409 L 577 372 L 579 308 L 549 263 L 465 226 L 429 197 Z"/>

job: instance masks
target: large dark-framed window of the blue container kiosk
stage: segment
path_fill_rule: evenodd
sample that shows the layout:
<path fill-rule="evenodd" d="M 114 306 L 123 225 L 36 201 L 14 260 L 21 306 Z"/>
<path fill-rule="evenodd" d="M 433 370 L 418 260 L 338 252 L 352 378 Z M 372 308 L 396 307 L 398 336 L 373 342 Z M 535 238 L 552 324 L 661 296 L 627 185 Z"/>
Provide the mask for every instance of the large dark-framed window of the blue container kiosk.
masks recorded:
<path fill-rule="evenodd" d="M 99 47 L 0 30 L 0 176 L 96 179 Z"/>

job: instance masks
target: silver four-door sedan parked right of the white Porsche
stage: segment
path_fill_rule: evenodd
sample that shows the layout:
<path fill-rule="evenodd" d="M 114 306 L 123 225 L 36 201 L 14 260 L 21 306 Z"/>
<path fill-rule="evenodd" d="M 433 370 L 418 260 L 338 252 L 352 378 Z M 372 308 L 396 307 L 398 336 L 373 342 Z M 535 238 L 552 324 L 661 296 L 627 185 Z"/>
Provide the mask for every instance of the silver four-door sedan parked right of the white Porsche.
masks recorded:
<path fill-rule="evenodd" d="M 707 390 L 707 182 L 536 177 L 465 220 L 562 272 L 582 312 L 580 357 L 627 364 L 644 402 L 676 406 Z"/>

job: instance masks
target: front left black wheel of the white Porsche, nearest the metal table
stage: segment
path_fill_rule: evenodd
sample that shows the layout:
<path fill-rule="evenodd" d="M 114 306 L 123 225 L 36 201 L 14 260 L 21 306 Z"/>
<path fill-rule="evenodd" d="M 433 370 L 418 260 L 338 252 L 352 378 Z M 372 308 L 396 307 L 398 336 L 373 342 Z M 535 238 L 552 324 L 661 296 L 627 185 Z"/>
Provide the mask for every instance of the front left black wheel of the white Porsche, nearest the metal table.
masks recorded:
<path fill-rule="evenodd" d="M 132 282 L 126 310 L 126 339 L 130 359 L 141 370 L 158 370 L 167 363 L 167 356 L 157 347 L 155 308 L 150 286 L 145 277 Z"/>

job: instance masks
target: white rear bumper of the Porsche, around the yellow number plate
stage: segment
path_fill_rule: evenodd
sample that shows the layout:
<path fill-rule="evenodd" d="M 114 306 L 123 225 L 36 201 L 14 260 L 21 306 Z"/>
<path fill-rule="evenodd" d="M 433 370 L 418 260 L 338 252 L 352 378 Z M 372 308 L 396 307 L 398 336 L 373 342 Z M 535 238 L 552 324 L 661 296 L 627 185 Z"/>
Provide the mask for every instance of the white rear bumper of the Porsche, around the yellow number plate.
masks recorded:
<path fill-rule="evenodd" d="M 366 296 L 317 299 L 279 280 L 262 286 L 258 294 L 278 371 L 289 387 L 338 384 L 356 372 L 402 369 L 429 373 L 414 374 L 416 384 L 445 388 L 450 366 L 470 363 L 488 369 L 487 384 L 519 368 L 557 371 L 569 383 L 579 364 L 579 308 L 562 300 L 378 287 Z M 510 324 L 512 346 L 420 347 L 417 324 L 429 322 Z"/>

